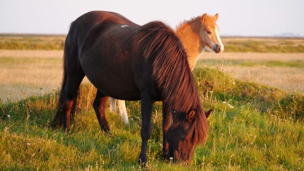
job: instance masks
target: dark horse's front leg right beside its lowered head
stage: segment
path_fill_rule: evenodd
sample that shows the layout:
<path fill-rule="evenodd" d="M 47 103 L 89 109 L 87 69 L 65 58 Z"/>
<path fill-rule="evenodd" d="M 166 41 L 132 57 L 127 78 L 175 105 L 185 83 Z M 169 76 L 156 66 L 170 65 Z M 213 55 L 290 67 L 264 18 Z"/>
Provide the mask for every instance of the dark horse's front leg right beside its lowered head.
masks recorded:
<path fill-rule="evenodd" d="M 165 157 L 169 155 L 169 144 L 167 141 L 167 131 L 172 123 L 172 113 L 168 111 L 168 106 L 163 101 L 163 154 Z"/>

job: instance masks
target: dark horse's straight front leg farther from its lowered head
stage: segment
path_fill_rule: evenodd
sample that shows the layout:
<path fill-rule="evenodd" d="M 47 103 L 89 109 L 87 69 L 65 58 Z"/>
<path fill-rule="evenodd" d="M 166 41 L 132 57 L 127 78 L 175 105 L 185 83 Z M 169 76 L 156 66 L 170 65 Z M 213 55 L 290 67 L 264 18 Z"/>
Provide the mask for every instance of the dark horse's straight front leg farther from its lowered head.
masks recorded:
<path fill-rule="evenodd" d="M 138 157 L 140 164 L 147 163 L 147 145 L 151 135 L 151 115 L 152 107 L 155 100 L 151 99 L 148 94 L 141 95 L 141 151 Z"/>

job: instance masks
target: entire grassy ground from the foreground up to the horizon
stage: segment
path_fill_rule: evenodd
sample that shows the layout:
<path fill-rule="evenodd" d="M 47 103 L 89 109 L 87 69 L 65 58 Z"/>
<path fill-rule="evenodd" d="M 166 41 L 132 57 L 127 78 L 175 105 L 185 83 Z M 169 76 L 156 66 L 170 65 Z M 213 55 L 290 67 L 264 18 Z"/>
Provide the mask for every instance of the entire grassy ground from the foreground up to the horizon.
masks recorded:
<path fill-rule="evenodd" d="M 162 155 L 161 102 L 153 107 L 146 167 L 137 164 L 140 101 L 126 102 L 127 125 L 107 108 L 105 134 L 92 109 L 96 90 L 82 84 L 71 132 L 50 127 L 63 41 L 0 35 L 0 170 L 304 170 L 302 39 L 223 38 L 226 52 L 201 55 L 193 81 L 214 112 L 188 167 Z"/>

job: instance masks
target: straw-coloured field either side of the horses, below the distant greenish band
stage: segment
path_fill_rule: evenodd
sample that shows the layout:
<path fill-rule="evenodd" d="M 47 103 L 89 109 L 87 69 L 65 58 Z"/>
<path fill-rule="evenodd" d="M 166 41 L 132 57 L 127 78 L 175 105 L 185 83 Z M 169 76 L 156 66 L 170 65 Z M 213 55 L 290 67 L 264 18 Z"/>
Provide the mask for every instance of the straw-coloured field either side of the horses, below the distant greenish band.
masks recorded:
<path fill-rule="evenodd" d="M 33 92 L 57 89 L 62 58 L 63 50 L 0 49 L 0 98 L 4 102 L 7 98 L 18 100 L 33 96 Z M 198 65 L 219 68 L 236 79 L 304 91 L 304 53 L 203 52 Z"/>

